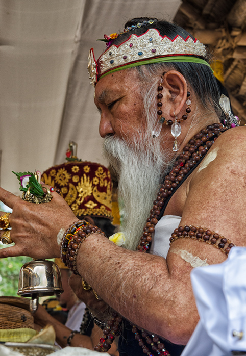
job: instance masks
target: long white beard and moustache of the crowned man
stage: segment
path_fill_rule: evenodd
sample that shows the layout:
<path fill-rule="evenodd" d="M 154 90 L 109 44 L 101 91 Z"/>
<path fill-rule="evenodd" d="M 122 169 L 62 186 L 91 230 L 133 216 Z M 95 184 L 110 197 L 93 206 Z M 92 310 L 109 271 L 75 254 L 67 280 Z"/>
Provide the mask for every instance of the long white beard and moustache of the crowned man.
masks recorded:
<path fill-rule="evenodd" d="M 170 162 L 163 151 L 163 141 L 153 139 L 149 133 L 127 141 L 107 136 L 103 149 L 119 175 L 120 231 L 126 237 L 124 247 L 135 250 Z"/>

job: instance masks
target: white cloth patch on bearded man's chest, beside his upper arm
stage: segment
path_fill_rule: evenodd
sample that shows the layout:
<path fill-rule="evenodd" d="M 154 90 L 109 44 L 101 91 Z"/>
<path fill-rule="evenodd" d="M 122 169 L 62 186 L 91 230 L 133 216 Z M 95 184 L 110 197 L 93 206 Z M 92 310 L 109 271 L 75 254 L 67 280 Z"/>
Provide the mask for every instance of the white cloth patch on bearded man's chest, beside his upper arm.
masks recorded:
<path fill-rule="evenodd" d="M 169 250 L 170 237 L 175 228 L 179 226 L 181 217 L 176 215 L 164 215 L 155 227 L 155 235 L 151 244 L 151 252 L 154 255 L 166 258 Z"/>

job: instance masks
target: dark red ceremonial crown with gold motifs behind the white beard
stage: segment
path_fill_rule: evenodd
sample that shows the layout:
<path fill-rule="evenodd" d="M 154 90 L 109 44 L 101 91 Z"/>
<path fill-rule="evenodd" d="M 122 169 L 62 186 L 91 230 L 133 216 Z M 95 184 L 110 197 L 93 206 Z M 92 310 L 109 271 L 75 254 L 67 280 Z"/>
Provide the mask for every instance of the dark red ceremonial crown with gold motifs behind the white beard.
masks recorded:
<path fill-rule="evenodd" d="M 77 217 L 91 215 L 111 219 L 112 181 L 109 170 L 98 163 L 80 161 L 75 156 L 68 159 L 68 162 L 44 171 L 41 180 L 61 190 L 61 196 Z"/>

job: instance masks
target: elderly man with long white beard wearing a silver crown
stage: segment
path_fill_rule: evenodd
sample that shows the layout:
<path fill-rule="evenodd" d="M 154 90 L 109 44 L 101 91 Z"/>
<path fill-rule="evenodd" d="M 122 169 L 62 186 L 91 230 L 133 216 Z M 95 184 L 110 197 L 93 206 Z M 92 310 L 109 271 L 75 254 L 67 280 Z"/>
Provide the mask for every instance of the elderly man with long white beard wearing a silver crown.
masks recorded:
<path fill-rule="evenodd" d="M 226 97 L 222 115 L 205 47 L 185 30 L 136 18 L 105 37 L 106 51 L 97 63 L 91 53 L 89 68 L 104 149 L 120 176 L 126 248 L 78 222 L 56 193 L 31 207 L 1 189 L 13 208 L 15 246 L 0 257 L 58 257 L 61 250 L 79 274 L 73 285 L 83 278 L 102 300 L 81 290 L 80 297 L 94 311 L 105 303 L 115 311 L 97 350 L 121 333 L 121 355 L 178 355 L 199 320 L 191 270 L 245 246 L 245 128 L 235 127 Z"/>

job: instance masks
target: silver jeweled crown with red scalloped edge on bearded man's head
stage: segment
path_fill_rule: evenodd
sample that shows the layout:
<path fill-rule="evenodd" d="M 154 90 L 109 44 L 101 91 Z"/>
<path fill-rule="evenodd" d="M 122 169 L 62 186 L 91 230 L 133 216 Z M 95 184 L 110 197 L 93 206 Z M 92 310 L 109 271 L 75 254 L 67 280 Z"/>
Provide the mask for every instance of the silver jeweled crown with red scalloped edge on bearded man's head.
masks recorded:
<path fill-rule="evenodd" d="M 142 35 L 132 34 L 128 40 L 112 45 L 99 57 L 97 63 L 91 50 L 88 60 L 88 69 L 92 84 L 108 71 L 124 67 L 134 62 L 167 56 L 195 55 L 206 56 L 206 47 L 198 39 L 188 36 L 183 39 L 177 35 L 173 40 L 161 36 L 156 29 L 149 29 Z"/>

